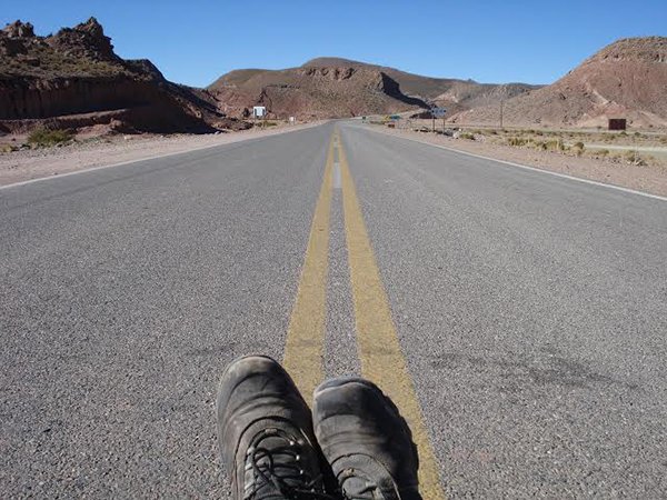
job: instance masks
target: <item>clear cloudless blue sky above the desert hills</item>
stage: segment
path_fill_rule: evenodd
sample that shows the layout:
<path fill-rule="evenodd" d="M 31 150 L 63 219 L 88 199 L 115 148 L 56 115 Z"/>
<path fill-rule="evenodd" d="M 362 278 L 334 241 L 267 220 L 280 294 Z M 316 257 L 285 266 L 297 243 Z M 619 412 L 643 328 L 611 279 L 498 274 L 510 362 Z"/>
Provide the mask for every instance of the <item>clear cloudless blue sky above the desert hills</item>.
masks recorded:
<path fill-rule="evenodd" d="M 207 86 L 338 56 L 434 77 L 549 83 L 618 38 L 667 36 L 667 0 L 0 0 L 46 34 L 97 17 L 123 58 Z"/>

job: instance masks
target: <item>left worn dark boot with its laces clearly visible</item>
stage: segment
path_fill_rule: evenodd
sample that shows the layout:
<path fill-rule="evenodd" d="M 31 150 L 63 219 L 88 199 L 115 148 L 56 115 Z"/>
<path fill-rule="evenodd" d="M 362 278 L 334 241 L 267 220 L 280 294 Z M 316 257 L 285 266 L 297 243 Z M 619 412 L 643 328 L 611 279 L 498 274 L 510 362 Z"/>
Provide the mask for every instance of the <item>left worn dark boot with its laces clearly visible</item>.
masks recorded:
<path fill-rule="evenodd" d="M 232 362 L 220 380 L 217 413 L 235 500 L 331 499 L 310 410 L 276 361 Z"/>

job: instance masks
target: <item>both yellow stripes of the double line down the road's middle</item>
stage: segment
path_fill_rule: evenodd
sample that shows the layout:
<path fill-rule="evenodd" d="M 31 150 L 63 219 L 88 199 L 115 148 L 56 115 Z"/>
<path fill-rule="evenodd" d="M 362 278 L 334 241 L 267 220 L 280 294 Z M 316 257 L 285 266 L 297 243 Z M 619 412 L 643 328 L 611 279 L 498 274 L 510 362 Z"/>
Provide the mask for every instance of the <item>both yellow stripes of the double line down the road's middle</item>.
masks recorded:
<path fill-rule="evenodd" d="M 402 354 L 375 253 L 368 238 L 355 182 L 338 132 L 329 142 L 325 178 L 312 218 L 301 280 L 287 333 L 283 364 L 305 394 L 323 380 L 327 314 L 327 269 L 331 178 L 338 151 L 357 346 L 361 376 L 377 383 L 399 408 L 419 450 L 420 491 L 427 500 L 444 500 L 434 449 L 421 407 Z"/>

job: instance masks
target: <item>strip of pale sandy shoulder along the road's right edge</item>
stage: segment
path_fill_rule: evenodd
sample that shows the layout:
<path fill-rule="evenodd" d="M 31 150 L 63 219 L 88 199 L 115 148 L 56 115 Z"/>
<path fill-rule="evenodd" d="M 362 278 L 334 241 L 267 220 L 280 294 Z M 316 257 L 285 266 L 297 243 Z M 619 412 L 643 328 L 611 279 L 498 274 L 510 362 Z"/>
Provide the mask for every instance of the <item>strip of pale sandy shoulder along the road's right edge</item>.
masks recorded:
<path fill-rule="evenodd" d="M 667 169 L 665 167 L 641 167 L 624 162 L 613 162 L 595 158 L 577 158 L 551 151 L 514 148 L 466 139 L 452 139 L 430 132 L 416 132 L 406 129 L 388 129 L 369 126 L 385 133 L 404 136 L 424 142 L 445 146 L 459 151 L 511 161 L 529 167 L 567 173 L 609 184 L 621 186 L 653 194 L 667 196 Z"/>

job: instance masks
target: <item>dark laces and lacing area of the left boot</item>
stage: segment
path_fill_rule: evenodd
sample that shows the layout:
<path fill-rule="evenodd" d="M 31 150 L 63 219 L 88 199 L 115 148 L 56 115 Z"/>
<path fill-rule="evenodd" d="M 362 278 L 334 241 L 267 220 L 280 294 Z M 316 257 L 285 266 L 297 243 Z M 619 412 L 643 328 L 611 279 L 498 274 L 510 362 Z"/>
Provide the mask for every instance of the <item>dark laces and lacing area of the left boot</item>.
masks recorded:
<path fill-rule="evenodd" d="M 303 451 L 303 441 L 281 429 L 258 433 L 246 453 L 252 480 L 246 482 L 243 499 L 335 500 L 322 492 L 321 473 L 312 477 L 312 467 L 302 463 Z"/>

